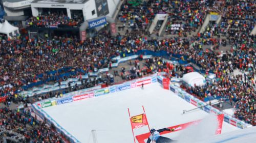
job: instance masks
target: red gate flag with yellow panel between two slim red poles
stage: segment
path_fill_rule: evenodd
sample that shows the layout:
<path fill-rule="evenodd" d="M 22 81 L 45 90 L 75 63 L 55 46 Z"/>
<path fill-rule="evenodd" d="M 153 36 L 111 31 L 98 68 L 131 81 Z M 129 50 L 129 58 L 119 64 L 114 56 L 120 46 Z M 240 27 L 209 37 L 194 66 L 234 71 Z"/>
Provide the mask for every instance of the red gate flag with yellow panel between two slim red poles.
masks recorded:
<path fill-rule="evenodd" d="M 131 117 L 130 121 L 132 124 L 132 129 L 137 129 L 137 128 L 144 127 L 144 126 L 148 125 L 147 121 L 146 121 L 145 113 Z"/>

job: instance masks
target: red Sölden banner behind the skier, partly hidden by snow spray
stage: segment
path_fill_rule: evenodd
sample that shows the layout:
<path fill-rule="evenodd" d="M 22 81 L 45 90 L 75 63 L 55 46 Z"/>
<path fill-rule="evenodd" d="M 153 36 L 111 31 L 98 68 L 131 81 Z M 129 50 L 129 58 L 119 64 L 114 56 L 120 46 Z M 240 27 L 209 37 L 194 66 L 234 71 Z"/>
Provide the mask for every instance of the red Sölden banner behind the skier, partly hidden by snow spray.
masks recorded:
<path fill-rule="evenodd" d="M 224 119 L 224 115 L 223 114 L 217 116 L 218 129 L 216 130 L 216 134 L 220 134 L 221 133 L 223 119 Z M 197 120 L 197 121 L 193 121 L 193 122 L 188 122 L 188 123 L 184 123 L 184 124 L 168 127 L 171 130 L 174 129 L 174 131 L 172 131 L 172 132 L 164 131 L 164 132 L 161 132 L 160 135 L 167 134 L 167 133 L 173 133 L 173 132 L 176 132 L 176 131 L 180 131 L 180 130 L 186 129 L 190 125 L 194 125 L 194 124 L 197 124 L 199 122 L 201 122 L 201 120 Z M 136 138 L 137 138 L 139 143 L 145 143 L 144 140 L 147 139 L 148 136 L 150 136 L 150 133 L 144 133 L 144 134 L 137 135 Z"/>

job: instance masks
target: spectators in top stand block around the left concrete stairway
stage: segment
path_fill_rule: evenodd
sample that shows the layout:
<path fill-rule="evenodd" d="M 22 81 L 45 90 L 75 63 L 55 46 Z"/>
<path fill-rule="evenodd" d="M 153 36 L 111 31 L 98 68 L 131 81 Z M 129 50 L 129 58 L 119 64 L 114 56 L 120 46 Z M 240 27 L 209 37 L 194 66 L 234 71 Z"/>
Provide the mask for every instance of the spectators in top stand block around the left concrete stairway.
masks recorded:
<path fill-rule="evenodd" d="M 143 1 L 139 5 L 124 1 L 119 13 L 119 20 L 129 27 L 146 30 L 156 14 L 167 14 L 165 32 L 172 35 L 186 36 L 203 24 L 207 12 L 206 1 Z"/>

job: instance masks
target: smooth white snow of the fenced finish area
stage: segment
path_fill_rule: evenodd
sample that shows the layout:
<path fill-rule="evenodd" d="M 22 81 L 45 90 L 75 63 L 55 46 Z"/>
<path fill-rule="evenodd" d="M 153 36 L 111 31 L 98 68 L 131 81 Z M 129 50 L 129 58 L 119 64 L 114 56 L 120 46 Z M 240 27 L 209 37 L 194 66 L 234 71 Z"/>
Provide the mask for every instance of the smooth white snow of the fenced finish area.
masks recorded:
<path fill-rule="evenodd" d="M 201 109 L 183 115 L 183 110 L 194 109 L 196 106 L 184 101 L 175 93 L 164 90 L 159 83 L 144 85 L 144 90 L 134 88 L 43 109 L 81 142 L 93 142 L 91 131 L 96 130 L 98 142 L 131 143 L 134 140 L 127 107 L 130 108 L 131 116 L 135 116 L 143 113 L 142 105 L 145 107 L 150 128 L 155 129 L 175 126 L 208 116 L 205 120 L 209 124 L 208 127 L 195 128 L 201 130 L 200 133 L 192 129 L 188 130 L 189 132 L 178 131 L 164 135 L 170 138 L 179 139 L 185 135 L 200 137 L 204 132 L 205 135 L 210 134 L 206 133 L 207 129 L 215 127 L 215 123 L 210 122 L 212 119 L 209 118 L 209 113 Z M 222 133 L 234 130 L 239 130 L 239 128 L 223 122 Z M 134 131 L 135 135 L 139 135 L 148 132 L 148 128 L 142 127 Z"/>

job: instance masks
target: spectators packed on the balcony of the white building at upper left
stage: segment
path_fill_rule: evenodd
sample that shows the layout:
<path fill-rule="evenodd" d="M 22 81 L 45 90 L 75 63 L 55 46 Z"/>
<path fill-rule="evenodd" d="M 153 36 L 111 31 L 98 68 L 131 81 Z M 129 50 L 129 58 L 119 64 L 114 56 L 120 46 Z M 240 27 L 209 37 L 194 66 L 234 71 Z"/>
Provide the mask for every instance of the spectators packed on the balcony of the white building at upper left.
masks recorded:
<path fill-rule="evenodd" d="M 78 15 L 74 15 L 74 17 L 69 18 L 63 13 L 50 13 L 30 17 L 26 21 L 26 25 L 31 27 L 61 28 L 80 26 L 82 22 L 83 17 Z"/>

